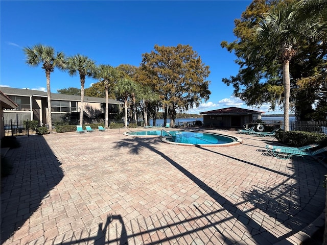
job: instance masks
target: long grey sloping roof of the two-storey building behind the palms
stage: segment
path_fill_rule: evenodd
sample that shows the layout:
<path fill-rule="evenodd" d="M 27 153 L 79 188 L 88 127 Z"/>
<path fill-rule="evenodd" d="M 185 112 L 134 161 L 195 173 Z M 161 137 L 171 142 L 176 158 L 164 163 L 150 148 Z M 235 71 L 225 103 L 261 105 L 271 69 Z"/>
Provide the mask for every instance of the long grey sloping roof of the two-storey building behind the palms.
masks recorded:
<path fill-rule="evenodd" d="M 40 91 L 40 90 L 8 88 L 8 87 L 0 87 L 0 90 L 3 91 L 7 95 L 36 96 L 36 97 L 37 96 L 40 96 L 40 97 L 48 96 L 48 93 Z M 62 93 L 51 93 L 51 100 L 81 101 L 81 96 L 80 95 L 62 94 Z M 100 97 L 84 96 L 84 102 L 106 103 L 106 99 L 100 98 Z M 109 99 L 109 104 L 124 104 L 124 103 L 121 101 Z"/>

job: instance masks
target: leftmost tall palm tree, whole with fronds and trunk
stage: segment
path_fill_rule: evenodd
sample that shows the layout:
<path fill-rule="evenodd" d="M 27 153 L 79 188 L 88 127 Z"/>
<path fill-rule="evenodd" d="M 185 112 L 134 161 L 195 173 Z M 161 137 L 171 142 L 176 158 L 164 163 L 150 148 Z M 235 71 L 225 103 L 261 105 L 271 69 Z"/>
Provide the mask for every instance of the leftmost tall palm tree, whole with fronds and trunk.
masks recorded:
<path fill-rule="evenodd" d="M 50 90 L 50 74 L 55 67 L 59 69 L 65 68 L 65 55 L 62 52 L 57 52 L 53 47 L 36 44 L 32 47 L 24 47 L 26 55 L 26 63 L 30 66 L 38 66 L 42 64 L 42 69 L 45 70 L 46 77 L 46 92 L 48 93 L 48 116 L 47 122 L 49 125 L 49 133 L 52 133 L 52 117 L 51 117 L 51 90 Z"/>

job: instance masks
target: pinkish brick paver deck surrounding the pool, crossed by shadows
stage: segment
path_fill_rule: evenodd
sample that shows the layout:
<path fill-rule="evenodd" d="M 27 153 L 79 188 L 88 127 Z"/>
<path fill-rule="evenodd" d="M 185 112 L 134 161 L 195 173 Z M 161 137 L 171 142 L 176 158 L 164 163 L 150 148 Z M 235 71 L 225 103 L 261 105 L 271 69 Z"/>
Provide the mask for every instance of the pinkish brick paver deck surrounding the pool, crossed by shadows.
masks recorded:
<path fill-rule="evenodd" d="M 18 138 L 2 243 L 298 244 L 324 209 L 324 166 L 269 155 L 272 138 L 213 130 L 243 143 L 198 148 L 122 132 Z"/>

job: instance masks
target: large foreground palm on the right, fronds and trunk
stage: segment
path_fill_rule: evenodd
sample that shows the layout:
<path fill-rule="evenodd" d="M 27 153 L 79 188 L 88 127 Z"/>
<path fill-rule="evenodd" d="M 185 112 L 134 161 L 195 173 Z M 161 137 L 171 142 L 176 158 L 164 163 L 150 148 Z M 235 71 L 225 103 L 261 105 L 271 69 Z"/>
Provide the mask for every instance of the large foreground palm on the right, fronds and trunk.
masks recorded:
<path fill-rule="evenodd" d="M 307 18 L 299 17 L 303 4 L 305 1 L 281 2 L 265 14 L 255 27 L 263 50 L 276 52 L 276 58 L 283 65 L 284 132 L 289 131 L 290 61 L 296 53 L 296 45 L 303 39 L 321 37 L 323 31 L 319 28 L 319 20 L 310 14 L 307 14 Z"/>

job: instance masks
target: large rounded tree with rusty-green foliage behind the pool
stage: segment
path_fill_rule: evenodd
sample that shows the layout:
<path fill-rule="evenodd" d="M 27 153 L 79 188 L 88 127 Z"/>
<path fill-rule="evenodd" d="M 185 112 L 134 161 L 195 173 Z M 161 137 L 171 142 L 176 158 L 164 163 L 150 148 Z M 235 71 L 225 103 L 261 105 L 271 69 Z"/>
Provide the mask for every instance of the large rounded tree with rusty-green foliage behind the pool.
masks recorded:
<path fill-rule="evenodd" d="M 167 115 L 174 126 L 176 111 L 185 111 L 199 106 L 202 99 L 209 99 L 209 66 L 202 63 L 190 45 L 154 46 L 154 51 L 142 55 L 142 66 L 147 74 L 157 79 L 155 91 L 161 95 L 164 119 Z M 166 124 L 166 121 L 164 122 Z"/>

